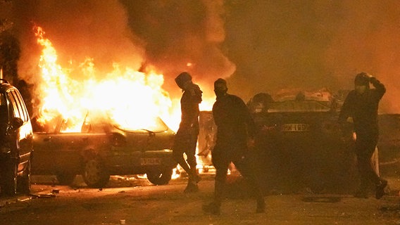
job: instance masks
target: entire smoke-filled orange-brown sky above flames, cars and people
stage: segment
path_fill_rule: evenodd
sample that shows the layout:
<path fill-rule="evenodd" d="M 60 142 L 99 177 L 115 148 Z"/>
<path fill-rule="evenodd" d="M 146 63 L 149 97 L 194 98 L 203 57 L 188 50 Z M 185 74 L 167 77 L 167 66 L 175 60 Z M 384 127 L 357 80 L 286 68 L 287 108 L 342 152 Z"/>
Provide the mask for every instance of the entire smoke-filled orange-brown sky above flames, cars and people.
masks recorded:
<path fill-rule="evenodd" d="M 351 89 L 358 72 L 369 72 L 387 85 L 381 111 L 400 113 L 397 0 L 2 4 L 7 12 L 0 14 L 13 18 L 21 40 L 20 74 L 27 77 L 35 76 L 34 22 L 54 43 L 61 63 L 90 56 L 99 70 L 113 62 L 155 68 L 173 97 L 180 94 L 173 79 L 183 70 L 205 96 L 213 96 L 213 81 L 225 77 L 230 92 L 245 101 L 261 91 Z"/>

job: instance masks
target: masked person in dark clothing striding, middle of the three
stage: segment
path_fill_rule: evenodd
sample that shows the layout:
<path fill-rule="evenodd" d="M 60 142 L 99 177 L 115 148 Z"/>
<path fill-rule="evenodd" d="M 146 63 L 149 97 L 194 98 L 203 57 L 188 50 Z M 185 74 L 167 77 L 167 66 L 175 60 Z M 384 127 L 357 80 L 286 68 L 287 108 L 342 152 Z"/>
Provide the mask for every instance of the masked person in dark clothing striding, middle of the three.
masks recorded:
<path fill-rule="evenodd" d="M 211 214 L 220 214 L 227 169 L 233 162 L 244 179 L 247 179 L 254 188 L 257 200 L 256 212 L 264 212 L 265 202 L 261 184 L 252 167 L 254 164 L 248 157 L 248 146 L 254 146 L 256 130 L 254 121 L 244 101 L 238 96 L 227 94 L 225 79 L 217 79 L 214 82 L 214 91 L 217 98 L 213 105 L 213 117 L 217 126 L 217 135 L 211 155 L 216 170 L 215 190 L 213 202 L 204 205 L 203 210 Z"/>

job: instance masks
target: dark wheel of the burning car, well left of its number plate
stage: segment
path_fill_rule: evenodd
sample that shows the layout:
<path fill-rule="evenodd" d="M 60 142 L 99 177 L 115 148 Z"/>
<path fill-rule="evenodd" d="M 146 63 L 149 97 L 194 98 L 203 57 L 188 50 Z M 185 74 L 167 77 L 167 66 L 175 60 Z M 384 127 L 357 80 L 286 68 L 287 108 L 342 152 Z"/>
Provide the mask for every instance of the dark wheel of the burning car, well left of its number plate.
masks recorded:
<path fill-rule="evenodd" d="M 90 188 L 103 188 L 108 183 L 110 175 L 106 172 L 103 162 L 99 158 L 87 160 L 83 172 L 83 180 Z"/>

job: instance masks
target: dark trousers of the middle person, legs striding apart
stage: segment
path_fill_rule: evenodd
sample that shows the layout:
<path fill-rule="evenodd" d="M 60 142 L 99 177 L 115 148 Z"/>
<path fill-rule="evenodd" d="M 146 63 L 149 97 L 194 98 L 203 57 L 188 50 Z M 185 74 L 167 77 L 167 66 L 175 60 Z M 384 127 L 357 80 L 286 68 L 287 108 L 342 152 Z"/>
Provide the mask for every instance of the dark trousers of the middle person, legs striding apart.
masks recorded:
<path fill-rule="evenodd" d="M 213 151 L 212 161 L 215 167 L 215 190 L 214 190 L 214 203 L 220 205 L 224 198 L 225 184 L 227 179 L 227 169 L 232 162 L 237 170 L 242 174 L 244 179 L 249 182 L 251 188 L 253 188 L 257 201 L 263 200 L 263 191 L 261 190 L 261 184 L 258 177 L 256 176 L 254 163 L 249 160 L 248 157 L 235 156 L 236 154 L 227 153 L 224 151 Z"/>

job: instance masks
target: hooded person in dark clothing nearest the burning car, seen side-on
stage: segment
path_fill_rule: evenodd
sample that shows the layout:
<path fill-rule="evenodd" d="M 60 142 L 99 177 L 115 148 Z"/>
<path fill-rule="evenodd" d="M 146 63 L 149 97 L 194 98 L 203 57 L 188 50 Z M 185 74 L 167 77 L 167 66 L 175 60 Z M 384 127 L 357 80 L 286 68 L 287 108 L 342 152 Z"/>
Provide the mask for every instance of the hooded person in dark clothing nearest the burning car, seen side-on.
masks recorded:
<path fill-rule="evenodd" d="M 180 99 L 181 122 L 175 135 L 173 156 L 189 176 L 185 192 L 190 193 L 199 191 L 197 183 L 200 181 L 200 176 L 196 172 L 196 144 L 199 136 L 199 103 L 203 92 L 198 85 L 192 83 L 192 76 L 188 72 L 178 75 L 175 82 L 183 94 Z"/>

